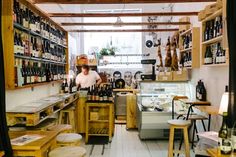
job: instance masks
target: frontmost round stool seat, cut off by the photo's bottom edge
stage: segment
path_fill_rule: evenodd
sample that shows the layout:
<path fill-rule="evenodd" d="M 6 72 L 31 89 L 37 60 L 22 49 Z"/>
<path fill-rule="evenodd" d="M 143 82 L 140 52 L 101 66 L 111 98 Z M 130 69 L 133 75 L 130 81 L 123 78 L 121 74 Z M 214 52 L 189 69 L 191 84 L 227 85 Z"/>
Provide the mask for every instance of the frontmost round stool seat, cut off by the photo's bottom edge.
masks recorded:
<path fill-rule="evenodd" d="M 86 150 L 78 146 L 58 147 L 49 152 L 49 157 L 85 157 Z"/>

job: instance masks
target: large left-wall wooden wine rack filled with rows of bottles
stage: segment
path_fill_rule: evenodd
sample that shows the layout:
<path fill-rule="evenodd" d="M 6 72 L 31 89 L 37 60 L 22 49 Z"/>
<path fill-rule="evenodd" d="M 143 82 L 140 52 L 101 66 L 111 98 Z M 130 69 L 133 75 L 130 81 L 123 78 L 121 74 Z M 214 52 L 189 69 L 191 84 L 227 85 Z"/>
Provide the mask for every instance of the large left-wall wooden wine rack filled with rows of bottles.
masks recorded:
<path fill-rule="evenodd" d="M 29 88 L 64 79 L 68 33 L 28 0 L 9 0 L 3 5 L 6 88 Z"/>

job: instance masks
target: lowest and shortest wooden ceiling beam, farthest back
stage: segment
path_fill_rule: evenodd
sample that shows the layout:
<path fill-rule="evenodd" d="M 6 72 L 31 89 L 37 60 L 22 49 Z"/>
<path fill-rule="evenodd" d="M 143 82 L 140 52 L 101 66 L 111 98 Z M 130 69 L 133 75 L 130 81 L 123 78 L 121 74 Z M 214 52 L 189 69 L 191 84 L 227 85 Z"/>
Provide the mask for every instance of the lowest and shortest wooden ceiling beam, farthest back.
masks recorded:
<path fill-rule="evenodd" d="M 68 32 L 175 32 L 178 28 L 173 29 L 106 29 L 106 30 L 67 30 Z"/>

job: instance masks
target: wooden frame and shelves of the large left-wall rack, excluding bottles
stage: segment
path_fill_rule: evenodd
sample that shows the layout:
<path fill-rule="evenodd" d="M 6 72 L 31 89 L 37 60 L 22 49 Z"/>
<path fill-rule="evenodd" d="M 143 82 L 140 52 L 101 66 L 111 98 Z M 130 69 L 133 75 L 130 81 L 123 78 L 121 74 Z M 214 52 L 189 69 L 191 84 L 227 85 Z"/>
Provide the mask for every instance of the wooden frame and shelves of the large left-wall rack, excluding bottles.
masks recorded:
<path fill-rule="evenodd" d="M 30 87 L 35 87 L 35 86 L 40 86 L 40 85 L 45 85 L 48 84 L 49 82 L 45 82 L 45 81 L 39 81 L 39 82 L 34 82 L 33 84 L 29 83 L 29 84 L 23 84 L 22 86 L 17 86 L 16 85 L 16 63 L 18 61 L 22 61 L 22 60 L 26 60 L 29 62 L 37 62 L 37 63 L 41 63 L 41 64 L 49 64 L 50 67 L 55 66 L 57 68 L 59 67 L 63 67 L 66 71 L 66 73 L 68 73 L 68 33 L 57 23 L 55 23 L 53 20 L 50 19 L 50 17 L 48 17 L 47 14 L 45 14 L 42 10 L 40 10 L 36 5 L 31 4 L 28 0 L 18 0 L 18 2 L 20 3 L 20 5 L 24 5 L 24 7 L 26 7 L 27 9 L 29 9 L 30 11 L 32 11 L 34 14 L 38 15 L 40 17 L 40 32 L 35 32 L 32 31 L 30 28 L 26 28 L 23 25 L 14 22 L 14 16 L 13 16 L 13 12 L 14 12 L 14 0 L 7 0 L 3 2 L 3 8 L 2 8 L 2 29 L 3 34 L 2 34 L 2 38 L 3 38 L 3 51 L 4 51 L 4 66 L 5 66 L 5 85 L 6 85 L 6 89 L 21 89 L 21 88 L 30 88 Z M 28 15 L 29 16 L 29 15 Z M 55 27 L 55 29 L 60 30 L 62 33 L 65 34 L 65 41 L 63 42 L 63 40 L 61 40 L 60 42 L 51 38 L 51 36 L 49 36 L 49 38 L 43 36 L 42 33 L 42 20 L 46 20 L 48 22 L 48 24 L 50 26 Z M 30 37 L 33 36 L 35 38 L 37 38 L 37 44 L 40 45 L 40 47 L 42 46 L 42 41 L 46 40 L 49 43 L 52 43 L 53 45 L 60 47 L 62 49 L 62 51 L 65 54 L 65 62 L 57 62 L 53 59 L 45 59 L 43 57 L 31 57 L 31 56 L 23 56 L 23 55 L 17 55 L 14 53 L 14 34 L 15 31 L 26 34 L 27 35 L 27 39 L 29 41 L 28 46 L 30 47 Z M 38 43 L 39 42 L 39 43 Z M 57 51 L 58 53 L 58 51 Z M 42 67 L 40 68 L 42 69 Z M 57 79 L 53 79 L 54 81 Z"/>

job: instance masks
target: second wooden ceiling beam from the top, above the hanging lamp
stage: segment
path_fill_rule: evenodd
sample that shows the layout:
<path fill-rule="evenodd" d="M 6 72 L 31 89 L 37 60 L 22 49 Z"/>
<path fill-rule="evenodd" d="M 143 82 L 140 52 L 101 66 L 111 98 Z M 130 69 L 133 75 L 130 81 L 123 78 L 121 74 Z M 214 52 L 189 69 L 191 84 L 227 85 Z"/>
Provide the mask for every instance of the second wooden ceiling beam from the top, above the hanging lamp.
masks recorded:
<path fill-rule="evenodd" d="M 198 12 L 48 13 L 50 17 L 197 16 Z"/>

